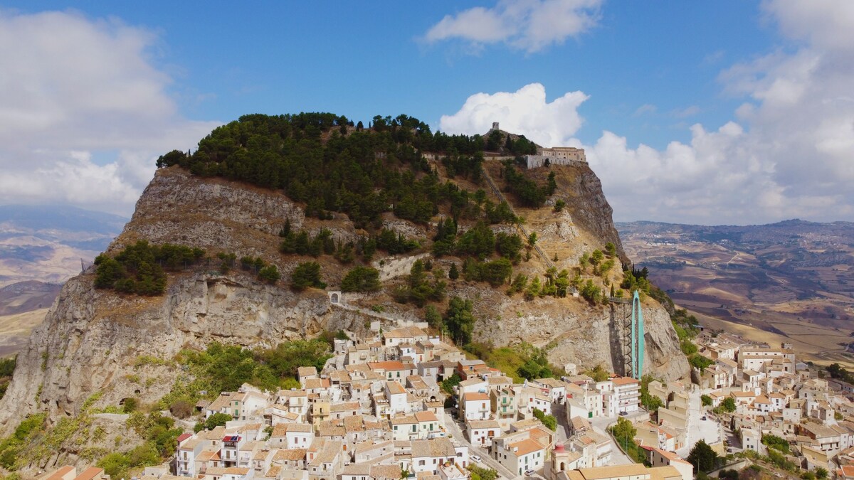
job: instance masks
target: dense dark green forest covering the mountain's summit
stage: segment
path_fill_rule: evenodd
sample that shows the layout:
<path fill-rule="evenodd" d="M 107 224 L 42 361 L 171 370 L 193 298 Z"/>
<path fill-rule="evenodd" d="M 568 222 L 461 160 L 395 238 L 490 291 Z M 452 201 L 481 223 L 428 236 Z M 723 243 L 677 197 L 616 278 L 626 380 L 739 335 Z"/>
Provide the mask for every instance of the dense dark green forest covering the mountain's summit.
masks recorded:
<path fill-rule="evenodd" d="M 484 149 L 511 155 L 532 153 L 524 137 L 502 140 L 500 132 L 447 135 L 430 132 L 423 121 L 377 115 L 368 128 L 336 114 L 250 114 L 219 126 L 195 152 L 173 150 L 157 167 L 178 165 L 199 176 L 218 176 L 284 190 L 305 202 L 320 219 L 347 214 L 357 227 L 381 225 L 393 210 L 401 219 L 424 224 L 447 205 L 454 218 L 471 217 L 475 198 L 453 182 L 442 183 L 422 152 L 440 152 L 447 175 L 482 182 Z M 481 200 L 483 202 L 483 200 Z M 478 209 L 479 210 L 479 209 Z"/>

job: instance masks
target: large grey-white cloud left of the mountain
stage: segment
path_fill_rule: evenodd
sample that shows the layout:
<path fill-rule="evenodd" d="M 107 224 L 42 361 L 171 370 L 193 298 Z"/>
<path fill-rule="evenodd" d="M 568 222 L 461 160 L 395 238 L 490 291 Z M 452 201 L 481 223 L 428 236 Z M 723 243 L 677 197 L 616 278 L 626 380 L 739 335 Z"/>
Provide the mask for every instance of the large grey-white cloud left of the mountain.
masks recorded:
<path fill-rule="evenodd" d="M 129 214 L 153 159 L 218 125 L 178 114 L 156 42 L 119 20 L 0 11 L 0 202 Z"/>

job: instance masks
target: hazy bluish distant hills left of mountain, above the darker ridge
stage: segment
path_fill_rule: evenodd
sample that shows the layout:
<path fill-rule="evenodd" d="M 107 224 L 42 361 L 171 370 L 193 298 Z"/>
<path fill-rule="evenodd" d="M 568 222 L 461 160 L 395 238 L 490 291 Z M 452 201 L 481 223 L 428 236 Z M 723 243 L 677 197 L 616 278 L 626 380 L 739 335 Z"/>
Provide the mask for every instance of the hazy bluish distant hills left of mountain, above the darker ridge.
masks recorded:
<path fill-rule="evenodd" d="M 0 286 L 61 283 L 107 248 L 127 219 L 64 205 L 0 205 Z"/>

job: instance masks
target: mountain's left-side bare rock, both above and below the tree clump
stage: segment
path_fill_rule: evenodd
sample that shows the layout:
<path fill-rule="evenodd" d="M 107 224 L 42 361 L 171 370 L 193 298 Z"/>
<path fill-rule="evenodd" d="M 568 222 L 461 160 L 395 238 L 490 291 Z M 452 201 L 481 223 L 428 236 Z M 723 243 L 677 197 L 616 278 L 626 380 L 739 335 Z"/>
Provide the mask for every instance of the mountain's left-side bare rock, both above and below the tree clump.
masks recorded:
<path fill-rule="evenodd" d="M 199 246 L 208 255 L 280 259 L 277 234 L 285 219 L 298 229 L 305 217 L 281 194 L 167 168 L 157 172 L 110 249 L 145 239 Z M 181 348 L 213 341 L 272 347 L 327 329 L 364 330 L 364 314 L 331 308 L 324 292 L 296 295 L 248 273 L 217 270 L 170 274 L 166 295 L 151 298 L 95 290 L 93 269 L 69 280 L 18 357 L 0 422 L 9 430 L 28 413 L 73 415 L 98 391 L 104 405 L 129 396 L 156 401 L 174 382 L 168 360 Z"/>

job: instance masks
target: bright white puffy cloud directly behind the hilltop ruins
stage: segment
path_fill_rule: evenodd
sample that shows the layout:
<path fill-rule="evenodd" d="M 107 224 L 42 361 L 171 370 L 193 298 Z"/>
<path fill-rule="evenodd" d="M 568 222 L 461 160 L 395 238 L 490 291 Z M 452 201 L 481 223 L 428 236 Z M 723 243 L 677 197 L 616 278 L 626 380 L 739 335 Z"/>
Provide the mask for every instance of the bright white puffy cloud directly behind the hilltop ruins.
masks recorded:
<path fill-rule="evenodd" d="M 447 133 L 483 134 L 497 121 L 501 130 L 524 133 L 543 146 L 564 145 L 582 126 L 577 108 L 587 99 L 581 91 L 570 91 L 547 102 L 546 87 L 541 84 L 514 92 L 477 93 L 456 114 L 442 115 L 439 128 Z"/>

